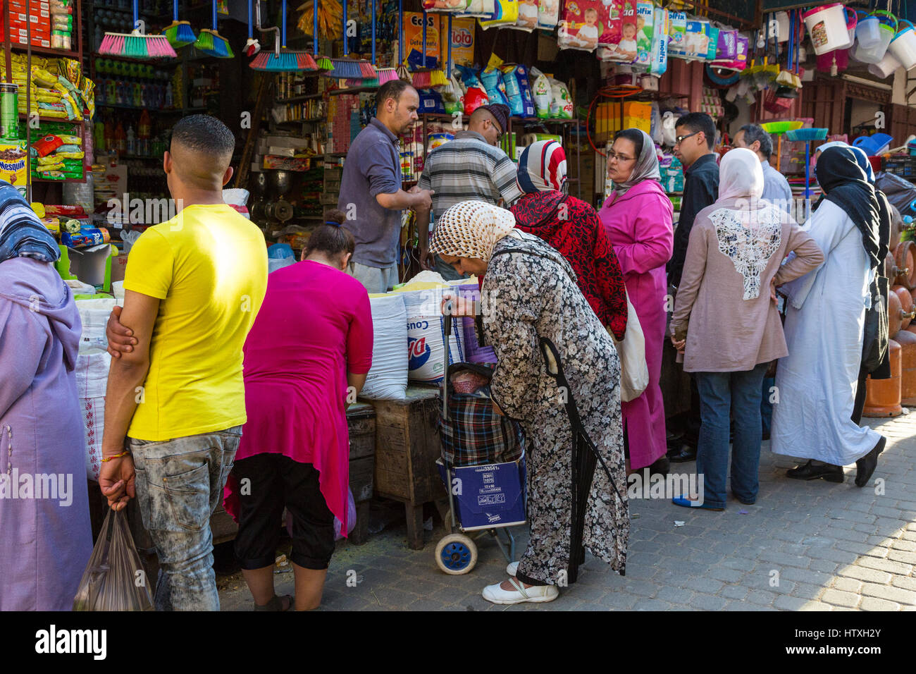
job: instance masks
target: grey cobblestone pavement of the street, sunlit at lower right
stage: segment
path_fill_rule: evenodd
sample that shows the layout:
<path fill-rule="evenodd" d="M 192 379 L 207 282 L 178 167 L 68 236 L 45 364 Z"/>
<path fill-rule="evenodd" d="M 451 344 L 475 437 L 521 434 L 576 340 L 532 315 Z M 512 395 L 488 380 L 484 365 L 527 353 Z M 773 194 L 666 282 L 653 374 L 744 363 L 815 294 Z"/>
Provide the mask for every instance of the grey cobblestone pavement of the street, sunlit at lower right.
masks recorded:
<path fill-rule="evenodd" d="M 888 445 L 866 488 L 854 484 L 855 466 L 846 468 L 843 484 L 789 480 L 784 473 L 795 462 L 772 454 L 765 442 L 755 505 L 733 500 L 715 513 L 667 500 L 631 501 L 624 578 L 589 556 L 579 580 L 554 602 L 498 606 L 480 596 L 485 585 L 507 578 L 491 537 L 477 539 L 470 573 L 448 576 L 433 560 L 442 527 L 426 532 L 422 550 L 411 550 L 402 523 L 364 546 L 339 545 L 322 610 L 916 610 L 916 411 L 868 421 Z M 524 527 L 515 531 L 518 556 L 528 535 Z M 348 587 L 353 577 L 358 583 Z M 293 593 L 291 573 L 276 578 L 278 594 Z M 224 611 L 251 609 L 240 574 L 220 577 L 220 587 Z"/>

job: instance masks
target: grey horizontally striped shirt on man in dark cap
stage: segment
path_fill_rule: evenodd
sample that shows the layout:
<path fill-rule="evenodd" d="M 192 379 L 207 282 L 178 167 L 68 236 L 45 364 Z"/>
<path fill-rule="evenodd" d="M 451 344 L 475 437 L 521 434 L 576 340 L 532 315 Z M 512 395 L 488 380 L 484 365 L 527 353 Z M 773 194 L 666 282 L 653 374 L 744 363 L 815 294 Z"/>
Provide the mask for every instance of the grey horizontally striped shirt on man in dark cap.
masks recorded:
<path fill-rule="evenodd" d="M 433 190 L 432 217 L 469 199 L 508 208 L 521 196 L 516 165 L 507 154 L 475 131 L 459 131 L 430 152 L 420 175 L 420 189 Z"/>

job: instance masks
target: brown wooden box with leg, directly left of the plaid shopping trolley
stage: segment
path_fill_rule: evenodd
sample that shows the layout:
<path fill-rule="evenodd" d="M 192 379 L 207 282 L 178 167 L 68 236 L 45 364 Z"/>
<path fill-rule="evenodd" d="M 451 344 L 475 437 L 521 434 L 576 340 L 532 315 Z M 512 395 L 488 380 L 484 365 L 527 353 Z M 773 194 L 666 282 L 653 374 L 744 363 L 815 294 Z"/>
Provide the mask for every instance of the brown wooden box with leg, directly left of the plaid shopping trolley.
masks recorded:
<path fill-rule="evenodd" d="M 423 503 L 445 496 L 436 470 L 438 387 L 409 386 L 404 401 L 374 401 L 376 494 L 400 501 L 407 514 L 408 544 L 423 547 Z"/>

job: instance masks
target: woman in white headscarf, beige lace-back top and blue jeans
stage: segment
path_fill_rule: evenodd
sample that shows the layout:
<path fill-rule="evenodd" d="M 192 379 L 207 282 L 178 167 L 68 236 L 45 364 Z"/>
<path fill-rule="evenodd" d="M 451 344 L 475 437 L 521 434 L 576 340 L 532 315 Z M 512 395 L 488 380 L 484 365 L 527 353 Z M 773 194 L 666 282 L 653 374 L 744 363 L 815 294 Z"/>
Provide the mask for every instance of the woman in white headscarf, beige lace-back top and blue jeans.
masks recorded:
<path fill-rule="evenodd" d="M 670 329 L 700 391 L 696 471 L 703 487 L 673 499 L 676 505 L 725 509 L 730 414 L 731 491 L 741 503 L 757 501 L 760 389 L 769 362 L 788 353 L 775 286 L 823 262 L 814 240 L 762 193 L 757 155 L 731 150 L 719 166 L 719 198 L 697 214 L 691 229 Z M 780 267 L 790 251 L 795 257 Z"/>

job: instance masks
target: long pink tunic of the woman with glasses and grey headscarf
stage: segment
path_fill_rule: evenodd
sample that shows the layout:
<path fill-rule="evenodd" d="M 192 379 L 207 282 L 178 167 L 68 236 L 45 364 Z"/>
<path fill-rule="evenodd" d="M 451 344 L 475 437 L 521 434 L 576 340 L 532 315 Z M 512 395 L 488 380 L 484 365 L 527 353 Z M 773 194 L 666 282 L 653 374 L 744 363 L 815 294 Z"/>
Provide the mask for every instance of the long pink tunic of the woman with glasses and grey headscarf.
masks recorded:
<path fill-rule="evenodd" d="M 656 181 L 645 180 L 626 194 L 612 194 L 598 212 L 614 246 L 627 294 L 646 337 L 649 386 L 635 400 L 621 403 L 627 428 L 630 469 L 649 466 L 665 455 L 665 407 L 661 399 L 661 347 L 665 338 L 668 280 L 674 229 L 671 200 Z"/>

